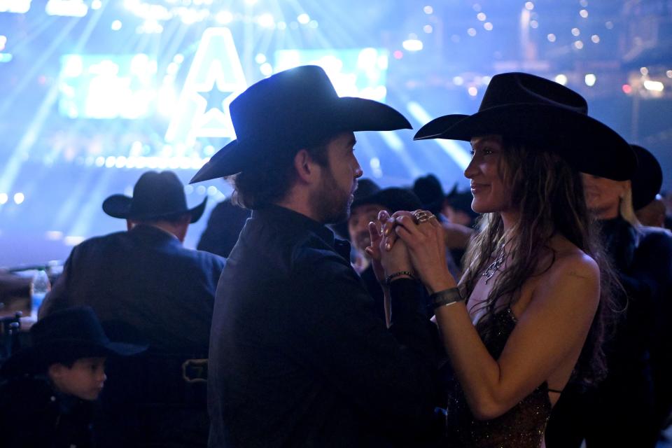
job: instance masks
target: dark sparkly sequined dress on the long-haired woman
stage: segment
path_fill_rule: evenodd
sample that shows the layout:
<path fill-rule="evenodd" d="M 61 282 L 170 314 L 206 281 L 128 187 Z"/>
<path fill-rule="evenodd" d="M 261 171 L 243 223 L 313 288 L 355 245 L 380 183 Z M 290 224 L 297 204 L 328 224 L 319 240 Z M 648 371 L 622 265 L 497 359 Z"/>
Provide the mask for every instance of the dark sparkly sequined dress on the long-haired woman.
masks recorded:
<path fill-rule="evenodd" d="M 516 326 L 510 308 L 494 317 L 484 344 L 493 358 L 499 358 Z M 551 414 L 548 386 L 544 382 L 521 402 L 496 419 L 479 421 L 472 416 L 456 379 L 448 380 L 447 442 L 462 448 L 538 448 Z"/>

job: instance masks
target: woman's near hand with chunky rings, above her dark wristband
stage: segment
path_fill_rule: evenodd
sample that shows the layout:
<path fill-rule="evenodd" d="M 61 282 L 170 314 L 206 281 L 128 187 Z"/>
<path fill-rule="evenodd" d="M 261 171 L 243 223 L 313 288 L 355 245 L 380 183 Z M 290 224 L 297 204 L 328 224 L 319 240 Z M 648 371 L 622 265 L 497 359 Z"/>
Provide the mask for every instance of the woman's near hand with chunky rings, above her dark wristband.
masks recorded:
<path fill-rule="evenodd" d="M 416 216 L 423 213 L 426 217 L 419 222 Z M 437 218 L 429 212 L 416 210 L 413 213 L 399 211 L 392 215 L 392 219 L 395 226 L 389 233 L 394 233 L 405 243 L 414 270 L 429 292 L 454 288 L 456 281 L 446 263 L 444 230 Z M 392 250 L 401 241 L 396 241 Z"/>

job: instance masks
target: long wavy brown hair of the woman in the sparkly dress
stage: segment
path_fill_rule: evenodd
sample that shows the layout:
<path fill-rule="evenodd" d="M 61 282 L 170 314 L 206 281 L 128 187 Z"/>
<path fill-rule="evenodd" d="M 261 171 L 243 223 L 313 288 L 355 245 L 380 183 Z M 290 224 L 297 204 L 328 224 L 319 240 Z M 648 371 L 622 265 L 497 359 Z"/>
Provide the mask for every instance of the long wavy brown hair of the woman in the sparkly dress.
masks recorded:
<path fill-rule="evenodd" d="M 464 297 L 470 296 L 484 269 L 505 244 L 507 266 L 493 284 L 482 305 L 485 312 L 477 322 L 484 339 L 491 337 L 495 314 L 517 300 L 528 278 L 546 272 L 553 264 L 551 237 L 556 233 L 566 237 L 600 267 L 600 303 L 573 374 L 573 379 L 583 384 L 594 383 L 606 372 L 602 342 L 613 320 L 611 297 L 615 276 L 603 255 L 596 223 L 589 215 L 580 174 L 552 151 L 506 139 L 503 148 L 499 172 L 504 185 L 510 186 L 510 203 L 519 211 L 520 218 L 505 232 L 499 213 L 481 216 L 481 232 L 467 251 L 461 292 Z M 549 251 L 550 262 L 542 265 Z"/>

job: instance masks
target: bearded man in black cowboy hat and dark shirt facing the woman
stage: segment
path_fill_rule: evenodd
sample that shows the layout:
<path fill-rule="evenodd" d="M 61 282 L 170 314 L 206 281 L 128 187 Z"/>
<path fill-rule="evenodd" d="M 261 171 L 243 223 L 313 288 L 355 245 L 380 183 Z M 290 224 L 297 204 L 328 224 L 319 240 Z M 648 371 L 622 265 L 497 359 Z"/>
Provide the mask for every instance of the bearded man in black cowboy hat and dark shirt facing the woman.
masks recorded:
<path fill-rule="evenodd" d="M 235 99 L 237 140 L 192 182 L 232 176 L 253 209 L 217 290 L 208 376 L 211 447 L 418 444 L 433 416 L 436 353 L 421 290 L 399 266 L 392 323 L 325 224 L 347 218 L 353 132 L 409 128 L 384 104 L 338 97 L 301 66 Z"/>

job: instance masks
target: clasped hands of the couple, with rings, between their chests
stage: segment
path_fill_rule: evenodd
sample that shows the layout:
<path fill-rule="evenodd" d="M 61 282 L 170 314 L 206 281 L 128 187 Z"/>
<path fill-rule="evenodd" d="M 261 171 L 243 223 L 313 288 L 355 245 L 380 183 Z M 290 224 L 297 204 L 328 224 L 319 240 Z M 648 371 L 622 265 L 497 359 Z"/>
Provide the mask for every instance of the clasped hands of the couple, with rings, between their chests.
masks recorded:
<path fill-rule="evenodd" d="M 429 211 L 380 211 L 369 223 L 372 258 L 376 278 L 385 287 L 387 276 L 395 272 L 414 272 L 428 290 L 439 290 L 454 279 L 446 265 L 443 228 Z"/>

